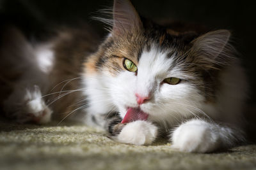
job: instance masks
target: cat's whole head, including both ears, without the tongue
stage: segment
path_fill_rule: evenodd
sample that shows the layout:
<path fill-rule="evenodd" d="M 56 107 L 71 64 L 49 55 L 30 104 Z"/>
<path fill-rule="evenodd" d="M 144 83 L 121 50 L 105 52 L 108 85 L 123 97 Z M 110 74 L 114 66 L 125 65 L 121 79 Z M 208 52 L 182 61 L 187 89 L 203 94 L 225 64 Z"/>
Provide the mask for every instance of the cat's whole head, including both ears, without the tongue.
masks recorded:
<path fill-rule="evenodd" d="M 128 0 L 116 0 L 93 67 L 122 117 L 134 108 L 152 120 L 175 120 L 214 102 L 218 73 L 230 60 L 229 38 L 226 30 L 166 29 L 141 18 Z"/>

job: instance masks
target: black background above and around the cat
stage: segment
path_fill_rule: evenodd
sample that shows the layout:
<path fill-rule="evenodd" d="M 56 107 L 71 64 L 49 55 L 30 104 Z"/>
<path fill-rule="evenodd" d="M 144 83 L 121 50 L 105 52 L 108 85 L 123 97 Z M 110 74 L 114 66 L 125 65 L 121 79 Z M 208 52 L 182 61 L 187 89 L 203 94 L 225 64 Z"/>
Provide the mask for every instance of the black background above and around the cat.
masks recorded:
<path fill-rule="evenodd" d="M 255 4 L 253 1 L 132 1 L 141 15 L 152 20 L 181 20 L 206 25 L 211 29 L 229 29 L 241 53 L 250 80 L 248 103 L 256 106 L 255 71 Z M 56 25 L 76 25 L 86 21 L 100 34 L 106 34 L 100 22 L 92 20 L 95 11 L 111 7 L 112 1 L 0 0 L 1 24 L 14 24 L 28 38 L 39 37 Z M 239 80 L 237 80 L 239 81 Z"/>

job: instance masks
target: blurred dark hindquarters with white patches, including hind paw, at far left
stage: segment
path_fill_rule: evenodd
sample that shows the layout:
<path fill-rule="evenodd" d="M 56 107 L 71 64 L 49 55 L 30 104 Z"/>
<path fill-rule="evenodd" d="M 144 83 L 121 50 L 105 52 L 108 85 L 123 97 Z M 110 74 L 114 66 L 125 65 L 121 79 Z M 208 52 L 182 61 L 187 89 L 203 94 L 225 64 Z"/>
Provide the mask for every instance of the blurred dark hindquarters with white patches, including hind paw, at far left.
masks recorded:
<path fill-rule="evenodd" d="M 1 76 L 10 79 L 12 89 L 3 103 L 4 114 L 17 122 L 49 122 L 52 111 L 41 94 L 47 92 L 49 71 L 46 68 L 49 70 L 53 57 L 51 47 L 31 45 L 22 32 L 14 28 L 7 28 L 1 41 L 4 42 L 0 46 L 1 67 L 10 73 L 4 72 Z"/>

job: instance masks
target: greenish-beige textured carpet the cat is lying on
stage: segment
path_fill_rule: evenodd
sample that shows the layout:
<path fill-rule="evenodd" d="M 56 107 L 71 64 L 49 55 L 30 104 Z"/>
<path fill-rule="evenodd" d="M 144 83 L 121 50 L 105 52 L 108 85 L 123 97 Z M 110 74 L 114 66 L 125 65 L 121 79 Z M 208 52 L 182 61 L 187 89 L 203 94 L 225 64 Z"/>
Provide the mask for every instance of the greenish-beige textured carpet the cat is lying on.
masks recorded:
<path fill-rule="evenodd" d="M 0 169 L 256 169 L 256 145 L 196 154 L 116 143 L 83 125 L 0 123 Z"/>

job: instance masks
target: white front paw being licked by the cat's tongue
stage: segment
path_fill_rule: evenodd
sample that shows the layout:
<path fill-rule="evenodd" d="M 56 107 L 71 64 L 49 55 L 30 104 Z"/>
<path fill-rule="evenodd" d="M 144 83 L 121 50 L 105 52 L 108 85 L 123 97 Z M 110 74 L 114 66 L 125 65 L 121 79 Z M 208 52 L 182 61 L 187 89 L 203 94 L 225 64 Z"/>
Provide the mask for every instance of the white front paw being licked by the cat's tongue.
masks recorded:
<path fill-rule="evenodd" d="M 150 122 L 137 120 L 122 129 L 117 141 L 133 145 L 150 145 L 157 136 L 157 127 Z"/>

